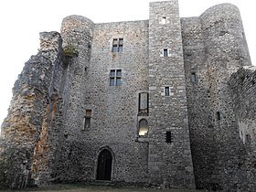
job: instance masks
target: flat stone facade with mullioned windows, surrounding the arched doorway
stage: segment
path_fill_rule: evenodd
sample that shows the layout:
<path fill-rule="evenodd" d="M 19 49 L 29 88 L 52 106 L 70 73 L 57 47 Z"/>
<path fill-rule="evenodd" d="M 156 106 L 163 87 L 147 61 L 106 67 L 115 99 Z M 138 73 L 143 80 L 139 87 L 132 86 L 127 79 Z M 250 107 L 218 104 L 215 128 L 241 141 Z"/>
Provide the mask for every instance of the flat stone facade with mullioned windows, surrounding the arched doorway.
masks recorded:
<path fill-rule="evenodd" d="M 66 20 L 63 24 L 61 30 L 66 36 Z M 123 52 L 113 53 L 113 38 L 119 37 L 123 37 Z M 135 140 L 138 94 L 148 89 L 148 21 L 97 24 L 91 45 L 89 65 L 80 67 L 80 73 L 74 74 L 73 88 L 80 87 L 72 88 L 70 93 L 74 99 L 70 99 L 63 142 L 66 152 L 60 159 L 59 179 L 95 180 L 98 155 L 108 149 L 114 156 L 113 182 L 145 183 L 148 144 Z M 86 63 L 79 57 L 77 63 Z M 110 86 L 111 69 L 122 69 L 120 86 Z M 83 125 L 86 110 L 91 110 L 89 129 Z"/>

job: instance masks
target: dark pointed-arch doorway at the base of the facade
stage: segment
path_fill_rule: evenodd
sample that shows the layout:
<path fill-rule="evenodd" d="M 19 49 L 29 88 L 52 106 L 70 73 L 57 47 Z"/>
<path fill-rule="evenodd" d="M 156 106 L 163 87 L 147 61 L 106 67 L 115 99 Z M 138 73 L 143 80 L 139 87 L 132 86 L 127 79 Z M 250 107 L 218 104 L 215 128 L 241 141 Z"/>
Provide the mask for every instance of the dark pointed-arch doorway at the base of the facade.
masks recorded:
<path fill-rule="evenodd" d="M 98 156 L 97 180 L 110 181 L 112 178 L 112 154 L 109 150 L 104 149 Z"/>

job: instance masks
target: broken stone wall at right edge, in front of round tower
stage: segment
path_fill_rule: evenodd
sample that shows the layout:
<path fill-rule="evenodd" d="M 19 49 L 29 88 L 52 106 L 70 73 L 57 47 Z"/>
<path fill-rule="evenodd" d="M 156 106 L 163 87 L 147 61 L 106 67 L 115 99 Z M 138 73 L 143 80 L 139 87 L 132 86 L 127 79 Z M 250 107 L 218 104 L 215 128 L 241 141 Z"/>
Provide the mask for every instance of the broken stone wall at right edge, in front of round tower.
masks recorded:
<path fill-rule="evenodd" d="M 240 138 L 237 142 L 242 144 L 243 153 L 245 154 L 244 161 L 240 163 L 240 166 L 247 172 L 247 191 L 253 191 L 256 188 L 255 69 L 254 66 L 240 68 L 229 79 L 229 85 L 232 89 L 231 95 L 234 101 L 235 119 L 239 124 Z"/>

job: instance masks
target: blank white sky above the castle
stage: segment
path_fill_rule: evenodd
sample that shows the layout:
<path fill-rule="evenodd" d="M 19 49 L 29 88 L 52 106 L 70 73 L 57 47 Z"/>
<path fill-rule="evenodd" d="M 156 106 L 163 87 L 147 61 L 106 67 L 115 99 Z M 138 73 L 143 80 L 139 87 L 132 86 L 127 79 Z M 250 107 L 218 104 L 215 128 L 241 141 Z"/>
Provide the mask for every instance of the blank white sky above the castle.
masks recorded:
<path fill-rule="evenodd" d="M 153 0 L 154 1 L 154 0 Z M 39 32 L 59 31 L 62 18 L 80 15 L 95 23 L 148 19 L 150 0 L 1 0 L 0 1 L 0 125 L 12 97 L 17 75 L 37 54 Z M 252 0 L 179 0 L 180 16 L 199 16 L 211 5 L 240 8 L 252 64 L 256 65 L 256 11 Z"/>

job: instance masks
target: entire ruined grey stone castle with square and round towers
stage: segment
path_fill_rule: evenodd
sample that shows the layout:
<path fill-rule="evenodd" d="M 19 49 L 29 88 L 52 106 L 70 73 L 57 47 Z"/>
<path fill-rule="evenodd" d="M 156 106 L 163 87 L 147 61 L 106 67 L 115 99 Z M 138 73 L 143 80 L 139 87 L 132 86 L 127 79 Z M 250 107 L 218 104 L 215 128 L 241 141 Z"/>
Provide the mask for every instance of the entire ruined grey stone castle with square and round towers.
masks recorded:
<path fill-rule="evenodd" d="M 125 183 L 255 191 L 256 72 L 239 9 L 63 19 L 16 80 L 0 186 Z"/>

